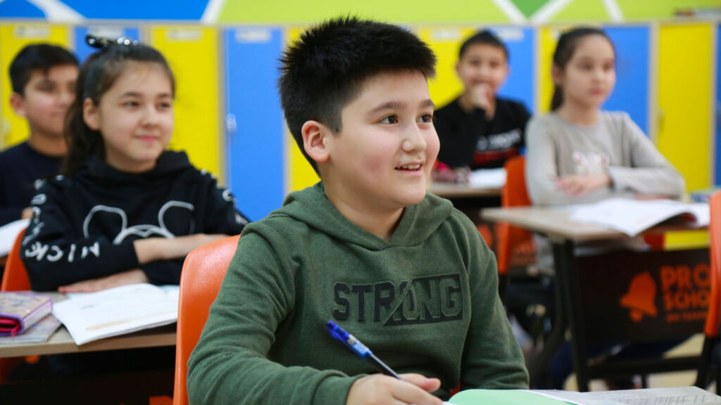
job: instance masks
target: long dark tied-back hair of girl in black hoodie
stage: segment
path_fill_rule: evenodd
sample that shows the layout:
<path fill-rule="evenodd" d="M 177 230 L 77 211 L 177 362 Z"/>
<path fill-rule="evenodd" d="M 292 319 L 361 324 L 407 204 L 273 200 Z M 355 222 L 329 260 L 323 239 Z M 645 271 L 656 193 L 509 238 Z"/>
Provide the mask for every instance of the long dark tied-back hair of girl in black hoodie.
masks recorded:
<path fill-rule="evenodd" d="M 106 40 L 87 37 L 87 43 L 100 48 L 90 55 L 80 68 L 75 89 L 75 100 L 68 108 L 65 117 L 63 137 L 68 144 L 68 153 L 63 159 L 60 172 L 66 176 L 74 174 L 81 168 L 89 156 L 105 159 L 105 144 L 102 135 L 92 130 L 83 118 L 83 104 L 90 99 L 99 105 L 102 95 L 128 68 L 131 63 L 156 63 L 163 68 L 170 80 L 172 94 L 175 94 L 175 79 L 162 53 L 137 41 L 120 38 Z"/>

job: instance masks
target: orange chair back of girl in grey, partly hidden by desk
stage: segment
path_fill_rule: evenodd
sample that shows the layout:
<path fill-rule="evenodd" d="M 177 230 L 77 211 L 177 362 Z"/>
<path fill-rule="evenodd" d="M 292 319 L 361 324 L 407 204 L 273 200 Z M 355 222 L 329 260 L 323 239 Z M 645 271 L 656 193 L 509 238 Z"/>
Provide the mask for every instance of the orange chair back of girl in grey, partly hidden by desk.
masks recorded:
<path fill-rule="evenodd" d="M 526 190 L 526 158 L 514 156 L 505 161 L 505 185 L 500 193 L 500 205 L 503 208 L 523 207 L 531 205 L 531 198 Z M 508 223 L 499 223 L 496 226 L 498 238 L 498 273 L 508 274 L 510 258 L 518 246 L 529 246 L 534 252 L 533 237 L 531 233 Z M 531 253 L 532 254 L 532 253 Z"/>

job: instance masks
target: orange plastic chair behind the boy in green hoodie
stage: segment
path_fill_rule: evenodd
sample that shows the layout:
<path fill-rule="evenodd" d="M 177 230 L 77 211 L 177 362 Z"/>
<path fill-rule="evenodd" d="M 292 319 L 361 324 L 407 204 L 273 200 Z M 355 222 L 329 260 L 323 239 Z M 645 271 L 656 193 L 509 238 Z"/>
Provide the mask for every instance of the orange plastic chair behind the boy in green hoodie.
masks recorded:
<path fill-rule="evenodd" d="M 180 276 L 180 303 L 175 347 L 174 405 L 187 405 L 187 360 L 200 339 L 208 311 L 218 295 L 240 236 L 200 246 L 185 257 Z"/>

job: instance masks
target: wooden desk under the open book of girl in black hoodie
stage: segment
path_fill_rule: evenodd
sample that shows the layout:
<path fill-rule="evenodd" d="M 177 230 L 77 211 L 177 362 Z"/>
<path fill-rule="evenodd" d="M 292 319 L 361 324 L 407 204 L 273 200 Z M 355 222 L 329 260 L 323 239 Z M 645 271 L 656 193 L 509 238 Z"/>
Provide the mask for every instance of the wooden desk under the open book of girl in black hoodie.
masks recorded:
<path fill-rule="evenodd" d="M 48 293 L 53 301 L 63 301 L 63 294 Z M 136 349 L 140 347 L 159 347 L 175 345 L 175 324 L 161 326 L 153 329 L 137 331 L 133 334 L 124 334 L 117 337 L 96 340 L 78 346 L 68 333 L 65 326 L 50 336 L 46 342 L 19 343 L 0 345 L 0 358 L 22 357 L 31 355 L 58 355 L 61 353 L 97 352 L 99 350 Z"/>

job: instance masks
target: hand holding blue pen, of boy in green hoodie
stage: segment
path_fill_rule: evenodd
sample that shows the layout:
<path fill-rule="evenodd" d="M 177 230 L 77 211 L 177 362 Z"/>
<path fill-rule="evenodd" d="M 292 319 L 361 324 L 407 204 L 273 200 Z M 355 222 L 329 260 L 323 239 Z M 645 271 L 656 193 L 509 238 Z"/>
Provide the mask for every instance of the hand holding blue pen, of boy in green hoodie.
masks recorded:
<path fill-rule="evenodd" d="M 401 378 L 403 380 L 382 374 L 366 375 L 350 386 L 345 404 L 442 404 L 441 399 L 430 394 L 441 388 L 438 378 L 420 374 L 402 374 Z"/>

